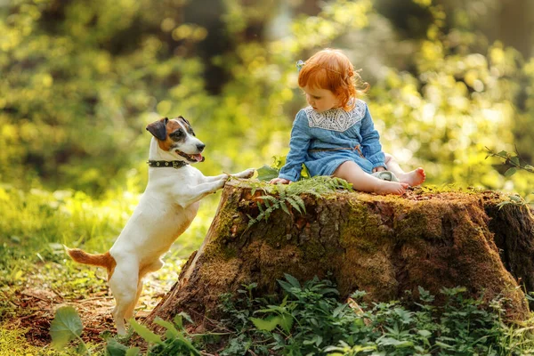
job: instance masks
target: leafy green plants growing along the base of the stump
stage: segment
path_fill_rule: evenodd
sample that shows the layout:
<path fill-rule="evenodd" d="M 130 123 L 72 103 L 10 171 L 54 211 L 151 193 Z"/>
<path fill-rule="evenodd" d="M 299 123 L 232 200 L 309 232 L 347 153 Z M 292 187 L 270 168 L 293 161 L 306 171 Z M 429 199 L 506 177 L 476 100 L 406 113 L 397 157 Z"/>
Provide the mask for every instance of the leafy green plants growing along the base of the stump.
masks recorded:
<path fill-rule="evenodd" d="M 285 296 L 252 298 L 240 290 L 234 300 L 223 295 L 234 331 L 222 355 L 248 351 L 258 355 L 519 355 L 534 352 L 528 325 L 507 326 L 500 320 L 504 301 L 491 307 L 465 298 L 465 288 L 443 288 L 442 306 L 419 287 L 412 307 L 399 302 L 340 303 L 332 282 L 317 278 L 300 284 L 292 276 L 279 280 Z M 365 293 L 356 292 L 359 300 Z M 277 303 L 278 301 L 278 303 Z M 255 315 L 253 317 L 252 315 Z M 256 316 L 261 316 L 258 318 Z M 238 347 L 239 345 L 239 347 Z"/>

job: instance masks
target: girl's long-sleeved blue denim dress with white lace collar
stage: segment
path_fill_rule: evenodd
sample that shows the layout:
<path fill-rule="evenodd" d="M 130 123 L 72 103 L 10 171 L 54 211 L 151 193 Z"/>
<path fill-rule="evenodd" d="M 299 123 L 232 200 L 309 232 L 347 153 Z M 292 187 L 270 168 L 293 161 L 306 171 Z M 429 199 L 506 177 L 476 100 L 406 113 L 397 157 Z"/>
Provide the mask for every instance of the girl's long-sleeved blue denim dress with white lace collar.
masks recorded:
<path fill-rule="evenodd" d="M 312 176 L 332 175 L 346 161 L 370 174 L 375 167 L 385 167 L 379 138 L 365 101 L 356 101 L 351 111 L 301 109 L 293 122 L 289 153 L 279 178 L 298 181 L 302 164 Z"/>

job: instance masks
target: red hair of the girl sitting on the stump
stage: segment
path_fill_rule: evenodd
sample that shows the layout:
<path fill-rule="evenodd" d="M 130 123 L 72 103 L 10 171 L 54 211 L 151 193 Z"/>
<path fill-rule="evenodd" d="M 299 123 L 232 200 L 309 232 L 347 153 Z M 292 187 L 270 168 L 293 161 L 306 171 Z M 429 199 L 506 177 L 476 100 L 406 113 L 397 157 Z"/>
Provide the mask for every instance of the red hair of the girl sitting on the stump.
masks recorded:
<path fill-rule="evenodd" d="M 356 105 L 351 98 L 358 98 L 368 92 L 369 85 L 358 71 L 354 71 L 351 61 L 344 53 L 334 49 L 324 49 L 312 55 L 298 74 L 298 85 L 302 88 L 328 89 L 334 93 L 345 111 Z"/>

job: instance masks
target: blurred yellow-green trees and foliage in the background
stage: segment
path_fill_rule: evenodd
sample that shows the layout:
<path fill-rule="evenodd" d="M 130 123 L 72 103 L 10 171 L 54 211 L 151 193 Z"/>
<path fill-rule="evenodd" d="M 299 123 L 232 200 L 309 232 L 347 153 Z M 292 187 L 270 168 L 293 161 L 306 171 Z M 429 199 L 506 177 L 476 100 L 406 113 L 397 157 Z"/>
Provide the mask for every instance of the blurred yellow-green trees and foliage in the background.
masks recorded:
<path fill-rule="evenodd" d="M 0 182 L 100 195 L 146 183 L 145 125 L 183 115 L 205 174 L 285 155 L 295 61 L 324 47 L 371 84 L 384 150 L 431 183 L 530 193 L 487 151 L 534 146 L 530 0 L 0 1 Z"/>

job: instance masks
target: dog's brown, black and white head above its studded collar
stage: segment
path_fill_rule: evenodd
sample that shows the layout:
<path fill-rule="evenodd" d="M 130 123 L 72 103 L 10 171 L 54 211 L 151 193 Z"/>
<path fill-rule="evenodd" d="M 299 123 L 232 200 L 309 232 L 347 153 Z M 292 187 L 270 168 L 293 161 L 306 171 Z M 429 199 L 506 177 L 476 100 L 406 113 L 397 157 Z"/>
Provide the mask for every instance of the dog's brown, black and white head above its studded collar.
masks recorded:
<path fill-rule="evenodd" d="M 202 162 L 204 157 L 200 154 L 206 147 L 195 137 L 189 121 L 183 117 L 168 119 L 164 117 L 150 125 L 147 131 L 158 140 L 158 146 L 174 155 L 178 160 L 190 163 Z"/>

